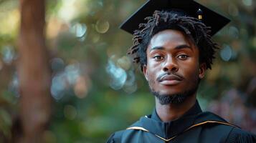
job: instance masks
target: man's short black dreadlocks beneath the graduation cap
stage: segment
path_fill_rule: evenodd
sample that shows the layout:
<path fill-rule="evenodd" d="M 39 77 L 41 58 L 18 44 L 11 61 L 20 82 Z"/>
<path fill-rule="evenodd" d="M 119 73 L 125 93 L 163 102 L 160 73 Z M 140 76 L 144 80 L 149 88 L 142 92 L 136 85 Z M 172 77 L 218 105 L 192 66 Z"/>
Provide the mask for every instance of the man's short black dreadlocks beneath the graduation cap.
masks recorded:
<path fill-rule="evenodd" d="M 205 63 L 207 69 L 212 69 L 212 60 L 219 47 L 210 36 L 211 27 L 191 16 L 184 16 L 181 11 L 155 11 L 153 16 L 145 19 L 147 23 L 139 24 L 133 33 L 133 46 L 128 49 L 128 55 L 133 62 L 141 66 L 147 64 L 146 50 L 151 38 L 159 31 L 166 29 L 179 30 L 190 37 L 199 48 L 199 62 Z"/>

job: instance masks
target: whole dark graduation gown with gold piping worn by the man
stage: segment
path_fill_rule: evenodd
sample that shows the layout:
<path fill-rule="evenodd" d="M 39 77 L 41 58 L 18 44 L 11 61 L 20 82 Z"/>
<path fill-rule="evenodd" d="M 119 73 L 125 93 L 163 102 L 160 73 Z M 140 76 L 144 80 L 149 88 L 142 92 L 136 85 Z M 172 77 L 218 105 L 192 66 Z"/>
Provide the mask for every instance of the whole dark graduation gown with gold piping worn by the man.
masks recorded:
<path fill-rule="evenodd" d="M 202 112 L 198 102 L 182 117 L 161 122 L 156 109 L 125 130 L 115 132 L 108 143 L 256 143 L 256 136 L 229 124 L 211 112 Z"/>

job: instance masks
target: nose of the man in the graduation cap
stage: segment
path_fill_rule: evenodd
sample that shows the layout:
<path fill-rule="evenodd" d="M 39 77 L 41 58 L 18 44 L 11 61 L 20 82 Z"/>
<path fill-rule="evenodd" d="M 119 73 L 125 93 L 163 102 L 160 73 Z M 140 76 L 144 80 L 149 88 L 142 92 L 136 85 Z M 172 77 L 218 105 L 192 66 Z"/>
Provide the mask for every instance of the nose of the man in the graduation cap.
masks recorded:
<path fill-rule="evenodd" d="M 178 71 L 179 70 L 179 66 L 176 64 L 176 61 L 174 59 L 174 57 L 169 56 L 167 57 L 165 63 L 163 64 L 163 71 L 167 72 L 167 71 Z"/>

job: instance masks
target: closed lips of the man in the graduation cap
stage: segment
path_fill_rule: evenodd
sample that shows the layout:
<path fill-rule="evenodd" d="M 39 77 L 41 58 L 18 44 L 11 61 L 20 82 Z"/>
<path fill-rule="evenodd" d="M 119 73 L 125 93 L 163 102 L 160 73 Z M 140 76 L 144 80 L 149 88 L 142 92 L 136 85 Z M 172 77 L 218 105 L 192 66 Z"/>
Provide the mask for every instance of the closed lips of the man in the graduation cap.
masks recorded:
<path fill-rule="evenodd" d="M 182 78 L 175 74 L 165 74 L 159 79 L 159 82 L 163 85 L 175 85 L 179 84 L 182 81 Z"/>

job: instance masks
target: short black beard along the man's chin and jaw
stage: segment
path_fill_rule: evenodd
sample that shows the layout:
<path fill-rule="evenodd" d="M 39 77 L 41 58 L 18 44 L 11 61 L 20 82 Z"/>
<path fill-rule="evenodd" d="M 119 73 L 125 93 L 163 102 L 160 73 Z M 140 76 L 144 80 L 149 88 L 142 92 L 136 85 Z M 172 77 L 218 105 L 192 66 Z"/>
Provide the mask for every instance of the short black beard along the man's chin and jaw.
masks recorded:
<path fill-rule="evenodd" d="M 184 92 L 175 93 L 175 94 L 160 94 L 159 92 L 154 91 L 151 87 L 152 94 L 158 99 L 159 103 L 162 105 L 165 104 L 181 104 L 188 97 L 194 95 L 199 87 L 199 80 L 195 83 L 194 87 L 184 90 Z"/>

